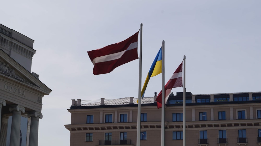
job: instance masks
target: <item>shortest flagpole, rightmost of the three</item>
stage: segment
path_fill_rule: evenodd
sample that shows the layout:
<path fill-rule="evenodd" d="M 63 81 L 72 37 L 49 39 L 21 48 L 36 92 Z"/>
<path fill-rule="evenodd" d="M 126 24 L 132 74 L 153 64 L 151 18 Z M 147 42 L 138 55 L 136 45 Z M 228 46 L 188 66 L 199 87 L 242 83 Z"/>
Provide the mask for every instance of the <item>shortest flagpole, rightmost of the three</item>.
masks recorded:
<path fill-rule="evenodd" d="M 186 76 L 185 76 L 186 55 L 183 58 L 183 146 L 186 146 Z"/>

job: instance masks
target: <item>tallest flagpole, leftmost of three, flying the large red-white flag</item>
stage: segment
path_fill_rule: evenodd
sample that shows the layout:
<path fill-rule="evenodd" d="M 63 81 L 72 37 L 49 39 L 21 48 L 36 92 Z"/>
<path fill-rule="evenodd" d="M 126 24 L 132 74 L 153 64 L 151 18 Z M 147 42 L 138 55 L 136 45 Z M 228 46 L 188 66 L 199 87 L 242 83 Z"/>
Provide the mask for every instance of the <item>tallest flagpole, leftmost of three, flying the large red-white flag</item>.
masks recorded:
<path fill-rule="evenodd" d="M 140 23 L 140 65 L 139 65 L 139 92 L 137 115 L 137 146 L 140 146 L 140 112 L 141 112 L 141 58 L 142 58 L 142 23 Z"/>

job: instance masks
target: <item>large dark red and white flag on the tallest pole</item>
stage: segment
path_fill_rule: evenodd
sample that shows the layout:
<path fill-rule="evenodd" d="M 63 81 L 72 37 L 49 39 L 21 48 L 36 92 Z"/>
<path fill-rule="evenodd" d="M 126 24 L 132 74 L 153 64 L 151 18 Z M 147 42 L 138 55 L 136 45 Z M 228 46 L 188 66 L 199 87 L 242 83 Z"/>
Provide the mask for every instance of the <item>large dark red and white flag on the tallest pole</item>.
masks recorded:
<path fill-rule="evenodd" d="M 94 65 L 93 74 L 107 74 L 122 64 L 138 59 L 138 35 L 139 31 L 122 42 L 88 51 Z"/>

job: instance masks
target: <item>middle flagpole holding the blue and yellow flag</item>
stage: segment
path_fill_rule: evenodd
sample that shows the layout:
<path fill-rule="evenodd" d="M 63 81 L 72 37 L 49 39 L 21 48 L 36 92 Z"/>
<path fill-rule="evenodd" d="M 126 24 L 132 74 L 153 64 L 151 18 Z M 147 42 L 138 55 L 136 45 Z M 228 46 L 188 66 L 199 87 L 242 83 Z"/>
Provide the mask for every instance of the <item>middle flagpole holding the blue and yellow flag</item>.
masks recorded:
<path fill-rule="evenodd" d="M 165 41 L 162 41 L 161 146 L 165 145 Z"/>

